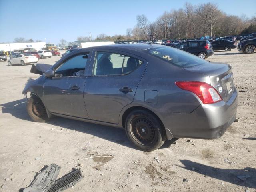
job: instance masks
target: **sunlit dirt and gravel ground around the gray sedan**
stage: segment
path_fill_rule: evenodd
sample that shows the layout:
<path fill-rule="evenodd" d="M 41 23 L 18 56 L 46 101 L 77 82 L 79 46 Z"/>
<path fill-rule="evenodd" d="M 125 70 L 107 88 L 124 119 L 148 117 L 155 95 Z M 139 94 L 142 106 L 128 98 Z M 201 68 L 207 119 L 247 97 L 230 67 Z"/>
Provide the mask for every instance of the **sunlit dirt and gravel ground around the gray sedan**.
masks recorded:
<path fill-rule="evenodd" d="M 82 170 L 84 178 L 66 192 L 256 191 L 256 53 L 219 51 L 208 60 L 232 66 L 234 83 L 244 91 L 238 92 L 239 121 L 220 139 L 181 138 L 153 152 L 134 148 L 118 128 L 59 117 L 32 122 L 22 90 L 38 75 L 30 65 L 0 62 L 0 192 L 22 191 L 52 163 L 62 167 L 59 177 L 73 167 Z M 111 157 L 80 160 L 94 156 Z"/>

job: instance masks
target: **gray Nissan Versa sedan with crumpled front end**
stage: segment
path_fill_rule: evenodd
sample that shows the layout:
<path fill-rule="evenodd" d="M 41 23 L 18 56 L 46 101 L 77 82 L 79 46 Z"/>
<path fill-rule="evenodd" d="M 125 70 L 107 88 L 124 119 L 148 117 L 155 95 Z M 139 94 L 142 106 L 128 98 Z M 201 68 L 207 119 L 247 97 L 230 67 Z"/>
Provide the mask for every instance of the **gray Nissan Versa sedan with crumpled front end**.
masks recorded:
<path fill-rule="evenodd" d="M 156 44 L 78 49 L 37 64 L 23 94 L 32 120 L 53 115 L 124 128 L 141 150 L 172 138 L 213 139 L 236 117 L 231 66 Z"/>

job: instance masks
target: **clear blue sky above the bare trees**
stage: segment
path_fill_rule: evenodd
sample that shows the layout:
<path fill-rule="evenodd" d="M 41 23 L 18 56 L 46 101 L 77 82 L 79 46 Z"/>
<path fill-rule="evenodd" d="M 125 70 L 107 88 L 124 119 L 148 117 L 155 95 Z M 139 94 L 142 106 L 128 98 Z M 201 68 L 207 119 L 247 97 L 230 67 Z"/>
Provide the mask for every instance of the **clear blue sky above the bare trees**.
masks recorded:
<path fill-rule="evenodd" d="M 153 22 L 164 11 L 206 2 L 218 4 L 226 14 L 249 18 L 256 15 L 256 0 L 0 0 L 0 42 L 32 38 L 58 44 L 78 36 L 126 34 L 136 25 L 136 16 L 145 14 Z"/>

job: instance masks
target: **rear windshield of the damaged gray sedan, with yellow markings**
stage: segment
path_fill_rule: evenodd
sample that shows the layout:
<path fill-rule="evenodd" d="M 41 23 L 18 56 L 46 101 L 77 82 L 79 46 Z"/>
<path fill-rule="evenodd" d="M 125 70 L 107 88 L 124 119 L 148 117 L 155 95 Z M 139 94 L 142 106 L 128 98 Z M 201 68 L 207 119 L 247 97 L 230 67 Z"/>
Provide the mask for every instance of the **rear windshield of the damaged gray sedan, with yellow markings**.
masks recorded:
<path fill-rule="evenodd" d="M 147 51 L 162 60 L 182 68 L 193 67 L 208 62 L 199 58 L 198 56 L 194 56 L 190 53 L 171 47 L 153 48 Z"/>

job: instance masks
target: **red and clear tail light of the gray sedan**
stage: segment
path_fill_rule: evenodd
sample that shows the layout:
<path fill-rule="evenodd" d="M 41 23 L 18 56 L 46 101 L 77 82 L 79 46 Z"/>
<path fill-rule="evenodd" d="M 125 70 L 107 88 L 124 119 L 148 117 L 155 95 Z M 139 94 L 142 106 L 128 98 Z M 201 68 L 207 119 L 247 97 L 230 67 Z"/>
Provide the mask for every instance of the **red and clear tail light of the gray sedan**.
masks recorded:
<path fill-rule="evenodd" d="M 203 104 L 212 104 L 222 100 L 216 89 L 205 82 L 175 82 L 175 84 L 183 90 L 187 90 L 196 94 L 196 96 L 200 98 Z"/>

